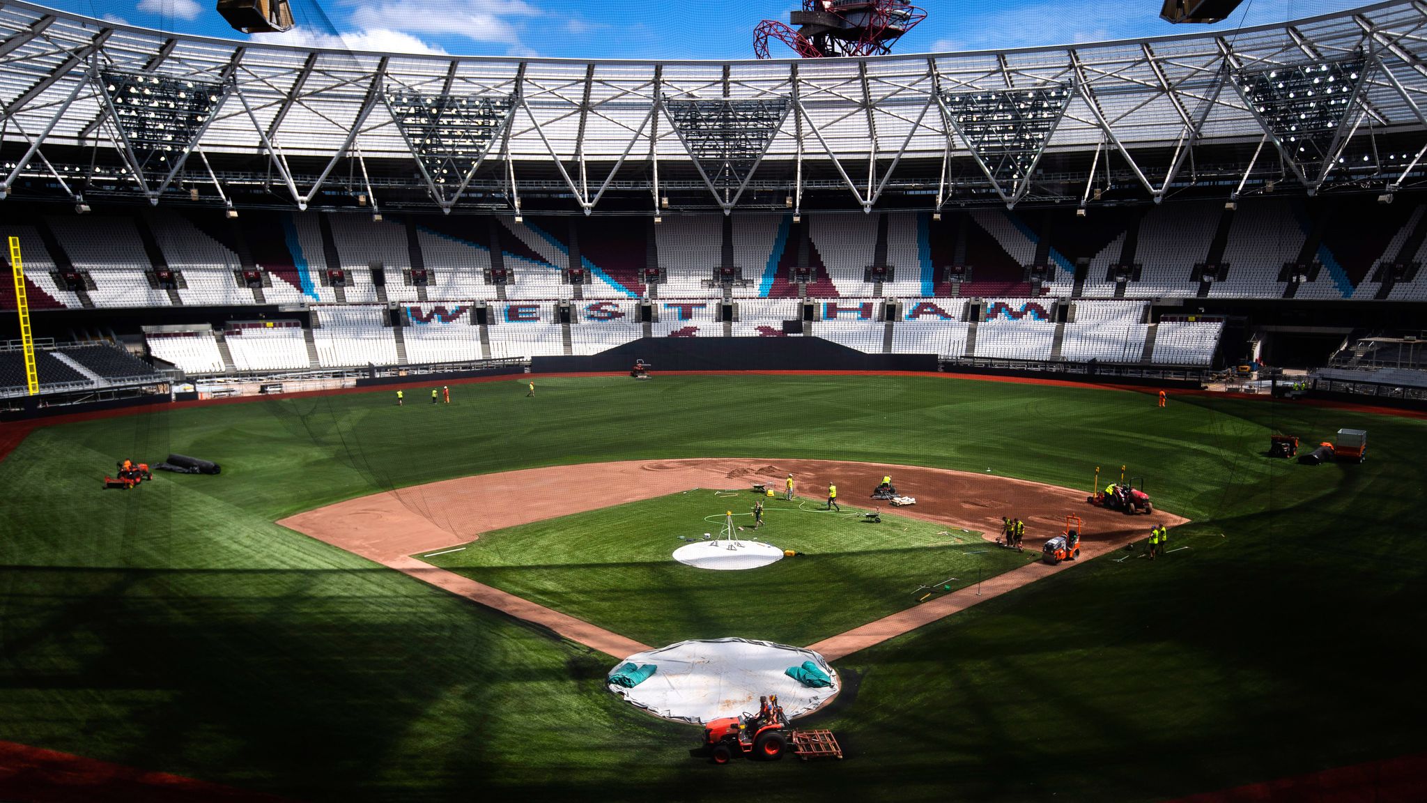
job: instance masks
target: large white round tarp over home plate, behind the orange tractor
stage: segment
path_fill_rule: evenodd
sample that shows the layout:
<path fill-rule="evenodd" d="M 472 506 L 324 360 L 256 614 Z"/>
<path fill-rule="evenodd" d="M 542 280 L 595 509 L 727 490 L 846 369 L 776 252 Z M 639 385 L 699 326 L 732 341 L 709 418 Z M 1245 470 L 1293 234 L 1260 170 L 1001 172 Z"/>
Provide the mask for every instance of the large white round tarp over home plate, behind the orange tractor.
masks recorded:
<path fill-rule="evenodd" d="M 785 672 L 812 662 L 832 686 L 813 689 Z M 802 647 L 748 639 L 679 642 L 632 654 L 615 664 L 654 664 L 655 672 L 634 689 L 609 684 L 609 690 L 655 716 L 704 724 L 718 717 L 758 712 L 758 699 L 778 694 L 789 719 L 809 714 L 838 694 L 838 673 L 821 654 Z"/>

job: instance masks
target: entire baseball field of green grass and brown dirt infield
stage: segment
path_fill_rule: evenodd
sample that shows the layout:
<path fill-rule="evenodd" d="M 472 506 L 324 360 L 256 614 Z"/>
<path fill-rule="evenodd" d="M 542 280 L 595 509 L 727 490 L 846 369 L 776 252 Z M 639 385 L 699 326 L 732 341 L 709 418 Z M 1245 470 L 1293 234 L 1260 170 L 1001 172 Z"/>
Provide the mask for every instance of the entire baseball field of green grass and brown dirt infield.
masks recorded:
<path fill-rule="evenodd" d="M 0 757 L 54 750 L 234 800 L 692 800 L 751 784 L 762 799 L 1157 800 L 1427 750 L 1427 422 L 945 376 L 535 381 L 534 399 L 517 377 L 452 386 L 450 406 L 382 390 L 31 432 L 0 462 Z M 1340 427 L 1370 432 L 1366 463 L 1266 456 L 1270 433 L 1316 443 Z M 223 474 L 100 490 L 117 459 L 170 452 Z M 759 537 L 808 554 L 732 573 L 721 599 L 659 556 L 726 500 L 746 510 L 746 476 L 646 493 L 638 476 L 564 469 L 689 459 L 798 467 L 806 504 L 769 500 Z M 815 462 L 975 473 L 1009 483 L 996 499 L 1012 503 L 1015 480 L 1083 499 L 1097 466 L 1103 484 L 1123 464 L 1189 523 L 1154 562 L 1087 556 L 835 659 L 843 692 L 803 722 L 835 730 L 846 760 L 723 767 L 691 757 L 698 729 L 611 694 L 605 652 L 278 524 L 394 500 L 430 529 L 422 549 L 467 544 L 432 566 L 652 646 L 806 644 L 915 609 L 909 592 L 956 560 L 986 576 L 1030 563 L 966 557 L 970 536 L 950 527 L 1002 513 L 949 506 L 979 499 L 932 492 L 878 534 L 819 519 L 802 509 L 825 497 Z M 499 477 L 527 470 L 548 486 Z M 595 493 L 555 519 L 542 500 L 562 472 Z M 839 483 L 845 509 L 870 507 L 878 476 L 836 476 L 863 477 Z M 400 530 L 368 540 L 400 544 Z M 948 574 L 962 583 L 945 599 L 975 593 Z M 41 769 L 0 767 L 3 799 L 123 799 L 103 773 L 60 797 Z"/>

